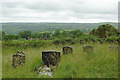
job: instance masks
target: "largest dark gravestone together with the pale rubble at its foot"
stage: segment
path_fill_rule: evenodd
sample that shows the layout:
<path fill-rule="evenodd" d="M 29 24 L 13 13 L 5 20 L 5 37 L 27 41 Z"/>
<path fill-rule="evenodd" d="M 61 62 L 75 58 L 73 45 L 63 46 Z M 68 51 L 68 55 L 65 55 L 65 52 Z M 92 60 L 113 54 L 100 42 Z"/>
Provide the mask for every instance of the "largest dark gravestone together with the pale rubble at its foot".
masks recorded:
<path fill-rule="evenodd" d="M 43 51 L 42 61 L 44 65 L 38 69 L 40 75 L 52 76 L 55 72 L 56 66 L 59 64 L 60 52 L 57 51 Z"/>

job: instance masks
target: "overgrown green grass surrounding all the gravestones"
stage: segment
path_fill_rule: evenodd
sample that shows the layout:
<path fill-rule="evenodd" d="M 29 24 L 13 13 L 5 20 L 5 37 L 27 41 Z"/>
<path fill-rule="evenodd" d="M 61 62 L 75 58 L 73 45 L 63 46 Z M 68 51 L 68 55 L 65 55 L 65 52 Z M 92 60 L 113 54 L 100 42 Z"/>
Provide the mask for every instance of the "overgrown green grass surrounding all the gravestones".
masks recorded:
<path fill-rule="evenodd" d="M 118 77 L 118 52 L 109 51 L 110 44 L 94 44 L 94 53 L 83 54 L 83 45 L 70 45 L 73 54 L 62 55 L 62 45 L 41 48 L 3 48 L 3 78 L 48 78 L 34 72 L 42 64 L 42 51 L 61 51 L 60 63 L 53 78 L 116 78 Z M 17 50 L 26 53 L 26 63 L 17 69 L 12 68 L 12 55 Z"/>

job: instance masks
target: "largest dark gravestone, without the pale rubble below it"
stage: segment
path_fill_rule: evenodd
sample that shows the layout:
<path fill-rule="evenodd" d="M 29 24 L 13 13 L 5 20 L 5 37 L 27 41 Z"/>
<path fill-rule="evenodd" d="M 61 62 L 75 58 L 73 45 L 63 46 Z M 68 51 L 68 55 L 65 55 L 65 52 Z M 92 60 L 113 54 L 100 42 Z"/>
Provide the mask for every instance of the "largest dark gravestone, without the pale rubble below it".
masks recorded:
<path fill-rule="evenodd" d="M 56 51 L 43 51 L 42 52 L 42 61 L 45 65 L 56 66 L 59 63 L 60 52 Z"/>

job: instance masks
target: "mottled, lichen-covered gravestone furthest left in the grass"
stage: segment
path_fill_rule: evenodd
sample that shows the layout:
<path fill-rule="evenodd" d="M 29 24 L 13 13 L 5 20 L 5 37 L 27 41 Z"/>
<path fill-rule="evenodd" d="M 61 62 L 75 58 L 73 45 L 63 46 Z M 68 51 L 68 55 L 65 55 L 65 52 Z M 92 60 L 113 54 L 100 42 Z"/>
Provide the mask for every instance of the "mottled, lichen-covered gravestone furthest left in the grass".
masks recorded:
<path fill-rule="evenodd" d="M 13 55 L 12 66 L 17 67 L 25 63 L 25 54 L 23 52 L 18 52 L 16 55 Z"/>

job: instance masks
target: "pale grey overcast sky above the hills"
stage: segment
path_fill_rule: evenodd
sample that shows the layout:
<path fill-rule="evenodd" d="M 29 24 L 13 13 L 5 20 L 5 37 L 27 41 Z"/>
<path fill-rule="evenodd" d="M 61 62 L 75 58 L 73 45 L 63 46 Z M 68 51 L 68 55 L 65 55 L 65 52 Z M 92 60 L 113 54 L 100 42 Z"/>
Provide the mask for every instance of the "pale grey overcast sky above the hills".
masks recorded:
<path fill-rule="evenodd" d="M 119 0 L 1 0 L 2 22 L 117 22 Z"/>

